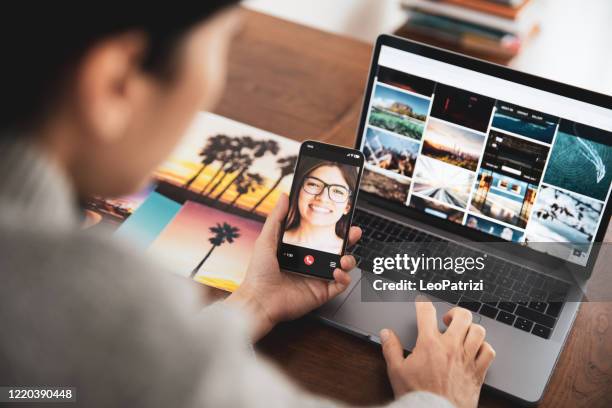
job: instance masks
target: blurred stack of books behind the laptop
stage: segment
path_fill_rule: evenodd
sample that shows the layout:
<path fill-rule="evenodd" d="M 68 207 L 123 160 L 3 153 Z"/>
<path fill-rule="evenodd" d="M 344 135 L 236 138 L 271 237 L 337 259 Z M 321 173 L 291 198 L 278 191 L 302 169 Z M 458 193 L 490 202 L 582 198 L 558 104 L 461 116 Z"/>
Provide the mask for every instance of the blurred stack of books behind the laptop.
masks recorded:
<path fill-rule="evenodd" d="M 397 34 L 507 64 L 539 30 L 540 0 L 402 0 Z"/>

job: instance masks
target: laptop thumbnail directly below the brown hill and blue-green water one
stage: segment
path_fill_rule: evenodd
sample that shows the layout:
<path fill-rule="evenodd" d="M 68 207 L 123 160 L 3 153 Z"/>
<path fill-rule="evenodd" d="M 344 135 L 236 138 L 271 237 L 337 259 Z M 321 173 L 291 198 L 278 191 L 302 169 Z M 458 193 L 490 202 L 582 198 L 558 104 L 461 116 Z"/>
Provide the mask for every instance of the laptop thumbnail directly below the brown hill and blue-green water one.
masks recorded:
<path fill-rule="evenodd" d="M 412 139 L 368 127 L 362 150 L 366 162 L 372 166 L 412 177 L 419 144 Z"/>

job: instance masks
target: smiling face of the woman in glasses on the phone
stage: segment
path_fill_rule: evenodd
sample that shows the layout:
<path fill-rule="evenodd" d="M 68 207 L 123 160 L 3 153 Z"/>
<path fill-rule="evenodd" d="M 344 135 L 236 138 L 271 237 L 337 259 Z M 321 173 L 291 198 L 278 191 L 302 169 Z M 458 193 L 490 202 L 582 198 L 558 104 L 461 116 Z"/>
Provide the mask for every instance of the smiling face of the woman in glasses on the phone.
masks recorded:
<path fill-rule="evenodd" d="M 309 183 L 308 177 L 319 179 L 326 184 L 337 184 L 350 190 L 342 172 L 335 166 L 321 166 L 307 174 L 304 183 Z M 316 181 L 315 181 L 316 182 Z M 344 214 L 350 210 L 350 200 L 336 202 L 330 199 L 329 189 L 324 188 L 320 194 L 314 195 L 304 191 L 304 185 L 300 189 L 298 197 L 298 209 L 303 221 L 317 226 L 335 225 Z M 349 197 L 350 198 L 350 197 Z"/>

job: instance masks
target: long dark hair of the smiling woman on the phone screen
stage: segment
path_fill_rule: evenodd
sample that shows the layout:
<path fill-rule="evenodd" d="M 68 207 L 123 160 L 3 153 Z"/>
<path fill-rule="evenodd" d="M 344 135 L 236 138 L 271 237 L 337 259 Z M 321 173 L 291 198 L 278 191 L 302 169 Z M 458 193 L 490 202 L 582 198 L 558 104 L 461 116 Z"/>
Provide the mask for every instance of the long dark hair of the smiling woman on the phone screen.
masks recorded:
<path fill-rule="evenodd" d="M 294 197 L 294 199 L 291 200 L 291 202 L 289 203 L 289 214 L 287 215 L 287 223 L 285 224 L 285 228 L 287 231 L 299 227 L 301 222 L 300 211 L 298 209 L 298 197 L 300 194 L 300 190 L 302 189 L 304 179 L 319 167 L 326 166 L 336 167 L 338 170 L 340 170 L 340 172 L 342 173 L 342 177 L 346 181 L 346 184 L 349 186 L 349 190 L 351 190 L 351 196 L 349 197 L 348 204 L 351 207 L 353 206 L 353 198 L 355 197 L 355 189 L 357 188 L 358 177 L 358 170 L 356 167 L 350 166 L 348 164 L 321 161 L 321 159 L 311 157 L 302 157 L 300 158 L 300 166 L 294 175 L 295 180 L 297 182 L 294 183 L 293 191 L 291 191 L 291 197 Z M 336 235 L 342 239 L 345 238 L 346 232 L 349 227 L 348 223 L 348 214 L 343 214 L 342 217 L 336 223 Z"/>

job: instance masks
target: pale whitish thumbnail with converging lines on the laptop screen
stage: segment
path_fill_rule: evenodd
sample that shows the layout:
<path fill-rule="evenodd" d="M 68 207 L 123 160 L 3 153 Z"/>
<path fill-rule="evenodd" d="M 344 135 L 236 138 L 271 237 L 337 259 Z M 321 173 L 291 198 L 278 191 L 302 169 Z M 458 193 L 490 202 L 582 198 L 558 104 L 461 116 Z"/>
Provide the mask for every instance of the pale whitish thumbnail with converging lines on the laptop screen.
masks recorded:
<path fill-rule="evenodd" d="M 467 207 L 474 174 L 444 162 L 419 157 L 413 192 L 459 208 Z"/>

